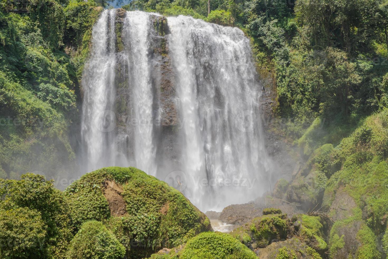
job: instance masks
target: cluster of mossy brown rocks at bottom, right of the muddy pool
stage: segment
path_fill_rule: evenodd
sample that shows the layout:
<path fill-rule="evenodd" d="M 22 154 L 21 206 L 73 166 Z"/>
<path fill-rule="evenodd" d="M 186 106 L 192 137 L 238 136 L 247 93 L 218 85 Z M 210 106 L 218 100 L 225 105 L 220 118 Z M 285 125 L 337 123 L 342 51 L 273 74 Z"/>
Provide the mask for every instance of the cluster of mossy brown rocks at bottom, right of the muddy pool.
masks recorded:
<path fill-rule="evenodd" d="M 263 210 L 263 214 L 230 235 L 251 249 L 265 247 L 261 250 L 267 255 L 263 254 L 264 258 L 321 258 L 318 252 L 327 251 L 320 217 L 296 214 L 288 218 L 273 208 Z"/>

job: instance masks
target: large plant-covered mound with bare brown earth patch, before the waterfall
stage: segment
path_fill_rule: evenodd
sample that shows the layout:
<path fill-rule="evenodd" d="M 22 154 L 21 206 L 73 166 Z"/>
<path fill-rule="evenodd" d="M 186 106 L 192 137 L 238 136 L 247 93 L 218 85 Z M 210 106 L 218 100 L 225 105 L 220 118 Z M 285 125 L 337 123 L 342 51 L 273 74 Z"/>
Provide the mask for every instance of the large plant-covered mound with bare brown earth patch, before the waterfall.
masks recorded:
<path fill-rule="evenodd" d="M 211 229 L 205 214 L 179 191 L 133 167 L 88 173 L 65 196 L 74 228 L 90 220 L 104 222 L 131 258 L 176 247 Z"/>

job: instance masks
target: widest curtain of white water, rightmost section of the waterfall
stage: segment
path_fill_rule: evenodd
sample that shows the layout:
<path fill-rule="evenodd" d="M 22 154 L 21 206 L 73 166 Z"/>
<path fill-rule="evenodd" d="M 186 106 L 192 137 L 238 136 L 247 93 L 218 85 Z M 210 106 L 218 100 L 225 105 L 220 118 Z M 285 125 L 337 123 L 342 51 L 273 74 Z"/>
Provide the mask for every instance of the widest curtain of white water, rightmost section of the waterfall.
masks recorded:
<path fill-rule="evenodd" d="M 191 17 L 171 17 L 168 24 L 185 120 L 183 171 L 194 194 L 204 194 L 193 195 L 193 202 L 209 204 L 204 197 L 217 196 L 211 207 L 218 209 L 247 202 L 263 191 L 268 172 L 249 40 L 237 28 Z"/>

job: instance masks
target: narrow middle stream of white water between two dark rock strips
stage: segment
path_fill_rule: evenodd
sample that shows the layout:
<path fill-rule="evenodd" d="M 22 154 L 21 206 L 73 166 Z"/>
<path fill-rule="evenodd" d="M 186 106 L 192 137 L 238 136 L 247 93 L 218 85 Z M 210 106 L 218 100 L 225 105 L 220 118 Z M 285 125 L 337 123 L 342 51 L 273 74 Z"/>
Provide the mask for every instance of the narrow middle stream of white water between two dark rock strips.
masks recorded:
<path fill-rule="evenodd" d="M 128 130 L 133 130 L 136 167 L 156 175 L 155 153 L 151 125 L 143 123 L 152 120 L 151 64 L 149 62 L 149 14 L 127 12 L 123 28 L 123 40 L 128 46 L 129 87 L 132 89 L 133 121 Z M 132 127 L 131 127 L 132 126 Z"/>

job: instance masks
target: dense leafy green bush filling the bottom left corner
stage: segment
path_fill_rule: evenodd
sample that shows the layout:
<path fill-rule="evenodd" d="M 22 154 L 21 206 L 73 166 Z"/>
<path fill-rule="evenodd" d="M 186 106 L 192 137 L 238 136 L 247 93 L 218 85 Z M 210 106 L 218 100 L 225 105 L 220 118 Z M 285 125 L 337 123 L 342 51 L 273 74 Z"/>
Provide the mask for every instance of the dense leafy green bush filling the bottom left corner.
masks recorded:
<path fill-rule="evenodd" d="M 64 258 L 72 235 L 68 206 L 53 181 L 0 179 L 0 257 Z"/>

